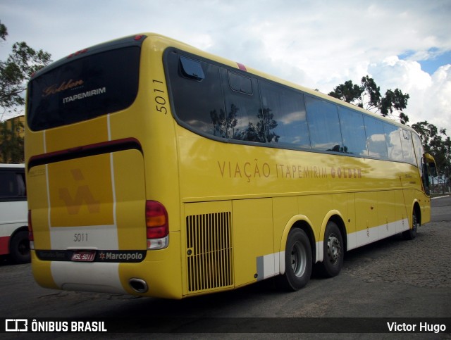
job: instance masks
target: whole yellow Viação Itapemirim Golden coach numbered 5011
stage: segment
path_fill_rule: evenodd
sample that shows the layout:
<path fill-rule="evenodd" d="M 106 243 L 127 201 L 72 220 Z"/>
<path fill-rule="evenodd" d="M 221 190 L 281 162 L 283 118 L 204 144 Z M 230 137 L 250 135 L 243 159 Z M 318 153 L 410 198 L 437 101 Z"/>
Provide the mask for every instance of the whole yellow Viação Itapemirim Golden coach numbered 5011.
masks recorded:
<path fill-rule="evenodd" d="M 295 291 L 430 220 L 433 158 L 410 127 L 158 34 L 40 70 L 26 115 L 43 287 Z"/>

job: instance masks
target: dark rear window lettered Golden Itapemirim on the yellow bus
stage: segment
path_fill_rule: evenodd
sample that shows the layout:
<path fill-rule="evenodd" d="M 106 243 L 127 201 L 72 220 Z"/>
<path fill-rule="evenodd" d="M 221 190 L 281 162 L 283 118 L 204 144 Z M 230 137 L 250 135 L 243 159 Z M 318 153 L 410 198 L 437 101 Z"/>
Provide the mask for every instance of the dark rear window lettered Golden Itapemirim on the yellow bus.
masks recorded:
<path fill-rule="evenodd" d="M 137 95 L 140 48 L 128 46 L 68 61 L 32 79 L 28 125 L 45 130 L 128 108 Z"/>

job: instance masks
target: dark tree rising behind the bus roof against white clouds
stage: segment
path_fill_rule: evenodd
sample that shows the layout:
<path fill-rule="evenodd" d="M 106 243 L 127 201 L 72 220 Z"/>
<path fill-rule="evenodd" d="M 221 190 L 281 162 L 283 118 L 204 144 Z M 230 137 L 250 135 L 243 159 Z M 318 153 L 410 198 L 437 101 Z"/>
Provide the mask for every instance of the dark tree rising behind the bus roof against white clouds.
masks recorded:
<path fill-rule="evenodd" d="M 362 77 L 362 85 L 352 84 L 352 80 L 347 80 L 345 84 L 340 84 L 329 92 L 329 96 L 341 99 L 347 103 L 353 103 L 366 110 L 380 112 L 384 117 L 387 115 L 393 116 L 393 112 L 397 111 L 397 119 L 406 124 L 409 117 L 403 113 L 404 108 L 407 107 L 409 94 L 403 94 L 400 89 L 394 91 L 388 89 L 385 96 L 381 95 L 381 89 L 376 85 L 373 78 L 369 75 Z M 365 97 L 368 97 L 367 99 Z"/>

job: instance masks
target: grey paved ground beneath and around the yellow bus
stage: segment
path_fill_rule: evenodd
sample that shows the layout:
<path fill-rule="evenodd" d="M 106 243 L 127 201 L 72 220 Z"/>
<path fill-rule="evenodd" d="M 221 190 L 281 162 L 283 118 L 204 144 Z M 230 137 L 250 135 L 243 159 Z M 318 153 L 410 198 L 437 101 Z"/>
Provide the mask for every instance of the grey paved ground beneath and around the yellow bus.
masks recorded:
<path fill-rule="evenodd" d="M 290 329 L 293 329 L 292 322 L 304 322 L 297 319 L 299 317 L 390 317 L 400 322 L 404 317 L 419 318 L 417 320 L 451 317 L 450 210 L 450 197 L 434 199 L 432 212 L 435 222 L 421 226 L 413 241 L 391 237 L 350 251 L 338 277 L 312 277 L 307 287 L 290 294 L 277 291 L 271 281 L 181 301 L 54 291 L 37 286 L 30 265 L 0 265 L 0 317 L 140 317 L 140 320 L 147 320 L 140 325 L 142 332 L 155 330 L 149 328 L 149 322 L 156 317 L 182 318 L 185 320 L 183 325 L 172 322 L 157 325 L 163 330 L 179 331 L 190 329 L 187 324 L 191 319 L 187 318 L 196 318 L 193 321 L 195 329 L 216 329 L 212 328 L 216 325 L 210 318 L 219 318 L 223 323 L 223 328 L 219 329 L 224 332 L 259 332 L 259 327 L 276 329 L 277 323 L 283 325 L 284 322 L 290 322 Z M 261 317 L 271 319 L 262 322 Z M 350 320 L 353 322 L 354 319 L 340 319 L 340 322 Z M 293 332 L 297 331 L 295 327 Z M 118 339 L 128 337 L 111 335 Z M 218 334 L 179 335 L 187 339 L 220 337 Z M 393 336 L 365 335 L 367 339 L 391 339 Z M 248 339 L 250 334 L 223 336 Z M 307 334 L 303 337 L 322 339 L 323 336 Z M 338 334 L 333 339 L 348 339 L 349 336 Z M 451 339 L 449 333 L 397 334 L 397 339 L 412 339 L 412 336 L 416 339 Z M 143 336 L 146 337 L 149 336 Z M 152 338 L 155 337 L 154 334 Z M 173 338 L 172 334 L 158 334 L 158 337 Z M 298 338 L 297 334 L 258 334 L 254 337 Z"/>

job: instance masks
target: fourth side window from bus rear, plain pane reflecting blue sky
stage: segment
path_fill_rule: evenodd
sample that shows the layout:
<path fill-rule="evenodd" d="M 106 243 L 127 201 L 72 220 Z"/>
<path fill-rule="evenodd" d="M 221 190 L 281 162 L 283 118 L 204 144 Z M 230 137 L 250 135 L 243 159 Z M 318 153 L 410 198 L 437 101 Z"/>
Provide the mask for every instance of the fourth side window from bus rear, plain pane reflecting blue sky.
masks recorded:
<path fill-rule="evenodd" d="M 312 149 L 343 152 L 337 106 L 305 96 Z"/>

